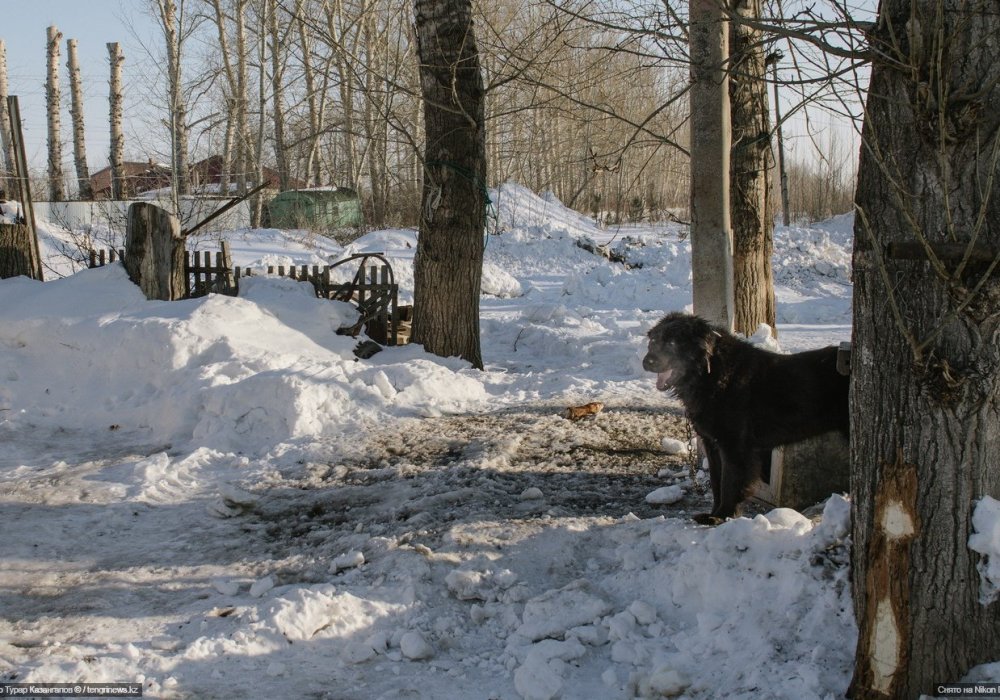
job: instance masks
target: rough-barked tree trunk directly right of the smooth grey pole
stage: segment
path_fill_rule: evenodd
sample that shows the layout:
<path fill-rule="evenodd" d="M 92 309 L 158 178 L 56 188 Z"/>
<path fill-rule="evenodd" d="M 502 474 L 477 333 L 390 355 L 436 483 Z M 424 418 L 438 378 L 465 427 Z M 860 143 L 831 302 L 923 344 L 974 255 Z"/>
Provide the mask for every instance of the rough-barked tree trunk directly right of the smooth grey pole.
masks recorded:
<path fill-rule="evenodd" d="M 760 0 L 737 0 L 733 11 L 759 19 Z M 750 335 L 766 323 L 775 329 L 774 208 L 771 135 L 761 32 L 729 26 L 729 105 L 733 142 L 729 161 L 729 211 L 733 227 L 733 328 Z M 775 332 L 777 332 L 775 330 Z"/>

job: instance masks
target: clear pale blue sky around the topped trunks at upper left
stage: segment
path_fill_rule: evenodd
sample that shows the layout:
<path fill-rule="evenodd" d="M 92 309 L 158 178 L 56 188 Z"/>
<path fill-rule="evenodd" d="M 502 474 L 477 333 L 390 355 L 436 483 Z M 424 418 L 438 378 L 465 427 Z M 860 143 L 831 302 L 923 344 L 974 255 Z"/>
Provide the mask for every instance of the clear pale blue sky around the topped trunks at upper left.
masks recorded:
<path fill-rule="evenodd" d="M 126 157 L 128 142 L 141 139 L 138 121 L 129 119 L 143 105 L 130 103 L 129 85 L 147 79 L 151 68 L 143 44 L 151 45 L 152 20 L 145 13 L 146 0 L 0 0 L 3 22 L 0 38 L 7 44 L 7 72 L 11 95 L 21 107 L 25 149 L 32 169 L 46 163 L 45 69 L 46 28 L 55 25 L 63 33 L 60 45 L 62 85 L 63 168 L 72 172 L 73 144 L 70 131 L 66 69 L 66 40 L 76 39 L 84 89 L 84 124 L 87 160 L 91 171 L 108 163 L 108 51 L 106 44 L 117 41 L 125 54 Z"/>

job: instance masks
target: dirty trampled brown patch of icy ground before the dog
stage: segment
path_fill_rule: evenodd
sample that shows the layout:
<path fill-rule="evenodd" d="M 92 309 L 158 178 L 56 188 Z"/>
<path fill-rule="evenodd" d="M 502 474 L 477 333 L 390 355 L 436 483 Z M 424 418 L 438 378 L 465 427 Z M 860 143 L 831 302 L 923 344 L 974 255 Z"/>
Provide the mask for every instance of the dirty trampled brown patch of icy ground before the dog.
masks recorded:
<path fill-rule="evenodd" d="M 707 483 L 690 478 L 692 456 L 661 448 L 664 437 L 689 437 L 679 410 L 609 406 L 573 422 L 563 408 L 408 419 L 357 435 L 331 445 L 336 459 L 261 484 L 251 520 L 280 558 L 345 530 L 435 549 L 463 522 L 650 518 L 710 507 Z M 680 502 L 646 502 L 672 484 L 685 489 Z"/>

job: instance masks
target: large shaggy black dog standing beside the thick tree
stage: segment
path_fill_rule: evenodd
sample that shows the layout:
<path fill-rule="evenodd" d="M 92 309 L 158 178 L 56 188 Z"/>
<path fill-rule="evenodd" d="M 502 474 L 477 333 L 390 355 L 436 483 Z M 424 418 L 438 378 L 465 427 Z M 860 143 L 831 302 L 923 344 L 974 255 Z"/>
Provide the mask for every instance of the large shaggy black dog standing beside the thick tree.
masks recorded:
<path fill-rule="evenodd" d="M 657 389 L 674 390 L 701 438 L 714 499 L 694 517 L 703 524 L 738 514 L 772 448 L 848 430 L 849 380 L 835 347 L 779 355 L 672 313 L 649 331 L 642 366 L 657 373 Z"/>

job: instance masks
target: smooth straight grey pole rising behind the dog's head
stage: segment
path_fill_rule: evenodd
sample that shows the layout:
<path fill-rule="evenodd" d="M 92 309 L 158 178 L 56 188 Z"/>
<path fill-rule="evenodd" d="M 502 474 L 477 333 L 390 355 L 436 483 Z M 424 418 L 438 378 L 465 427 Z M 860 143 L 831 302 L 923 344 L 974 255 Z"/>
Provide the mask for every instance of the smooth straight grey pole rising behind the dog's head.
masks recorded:
<path fill-rule="evenodd" d="M 729 53 L 716 0 L 691 5 L 691 272 L 694 312 L 733 324 L 733 242 L 729 220 Z"/>

